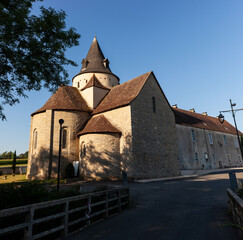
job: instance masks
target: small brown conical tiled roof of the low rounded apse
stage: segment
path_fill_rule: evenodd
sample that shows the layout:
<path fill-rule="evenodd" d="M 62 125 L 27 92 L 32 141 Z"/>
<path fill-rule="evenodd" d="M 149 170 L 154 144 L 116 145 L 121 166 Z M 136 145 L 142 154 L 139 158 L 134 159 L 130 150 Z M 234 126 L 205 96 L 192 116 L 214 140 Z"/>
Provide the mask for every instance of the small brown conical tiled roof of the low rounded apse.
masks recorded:
<path fill-rule="evenodd" d="M 93 116 L 85 128 L 78 133 L 78 135 L 88 134 L 88 133 L 121 133 L 117 128 L 115 128 L 104 115 Z"/>

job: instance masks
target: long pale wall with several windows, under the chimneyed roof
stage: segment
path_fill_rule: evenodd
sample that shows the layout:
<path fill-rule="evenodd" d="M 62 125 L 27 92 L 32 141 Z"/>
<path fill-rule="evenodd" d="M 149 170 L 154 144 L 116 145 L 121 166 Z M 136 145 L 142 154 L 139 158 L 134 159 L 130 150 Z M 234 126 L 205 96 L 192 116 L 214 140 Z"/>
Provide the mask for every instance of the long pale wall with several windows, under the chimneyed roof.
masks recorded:
<path fill-rule="evenodd" d="M 176 130 L 182 170 L 242 166 L 236 135 L 179 124 L 176 125 Z M 192 139 L 192 130 L 195 140 Z M 209 134 L 212 136 L 211 143 Z"/>

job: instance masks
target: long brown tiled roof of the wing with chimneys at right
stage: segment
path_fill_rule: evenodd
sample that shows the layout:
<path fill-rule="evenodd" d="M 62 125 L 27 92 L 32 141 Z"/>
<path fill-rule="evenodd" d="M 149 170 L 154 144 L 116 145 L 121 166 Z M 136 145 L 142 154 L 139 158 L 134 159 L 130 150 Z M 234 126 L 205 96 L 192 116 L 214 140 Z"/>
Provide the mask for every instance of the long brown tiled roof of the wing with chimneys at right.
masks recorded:
<path fill-rule="evenodd" d="M 227 121 L 221 124 L 216 117 L 172 108 L 177 124 L 236 135 L 236 129 Z"/>

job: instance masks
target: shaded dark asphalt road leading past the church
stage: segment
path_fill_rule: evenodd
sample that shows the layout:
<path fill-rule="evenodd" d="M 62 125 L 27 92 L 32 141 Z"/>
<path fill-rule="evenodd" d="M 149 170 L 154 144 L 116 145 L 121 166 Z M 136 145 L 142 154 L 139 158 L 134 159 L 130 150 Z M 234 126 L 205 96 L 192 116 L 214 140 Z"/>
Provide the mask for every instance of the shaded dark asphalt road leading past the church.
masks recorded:
<path fill-rule="evenodd" d="M 243 173 L 237 173 L 243 179 Z M 131 183 L 133 208 L 69 240 L 237 240 L 227 212 L 228 173 L 192 179 Z"/>

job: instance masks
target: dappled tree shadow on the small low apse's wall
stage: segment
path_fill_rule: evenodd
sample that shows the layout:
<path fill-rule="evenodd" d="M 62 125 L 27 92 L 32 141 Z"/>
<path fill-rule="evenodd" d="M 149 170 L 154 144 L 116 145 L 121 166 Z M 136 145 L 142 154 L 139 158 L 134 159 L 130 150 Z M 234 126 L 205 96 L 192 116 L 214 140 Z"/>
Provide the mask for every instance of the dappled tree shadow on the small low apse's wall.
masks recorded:
<path fill-rule="evenodd" d="M 102 146 L 96 146 L 91 140 L 86 143 L 85 149 L 80 151 L 80 174 L 84 179 L 120 180 L 122 171 L 131 175 L 131 135 L 119 137 L 119 140 L 119 144 L 115 146 L 105 140 Z"/>

